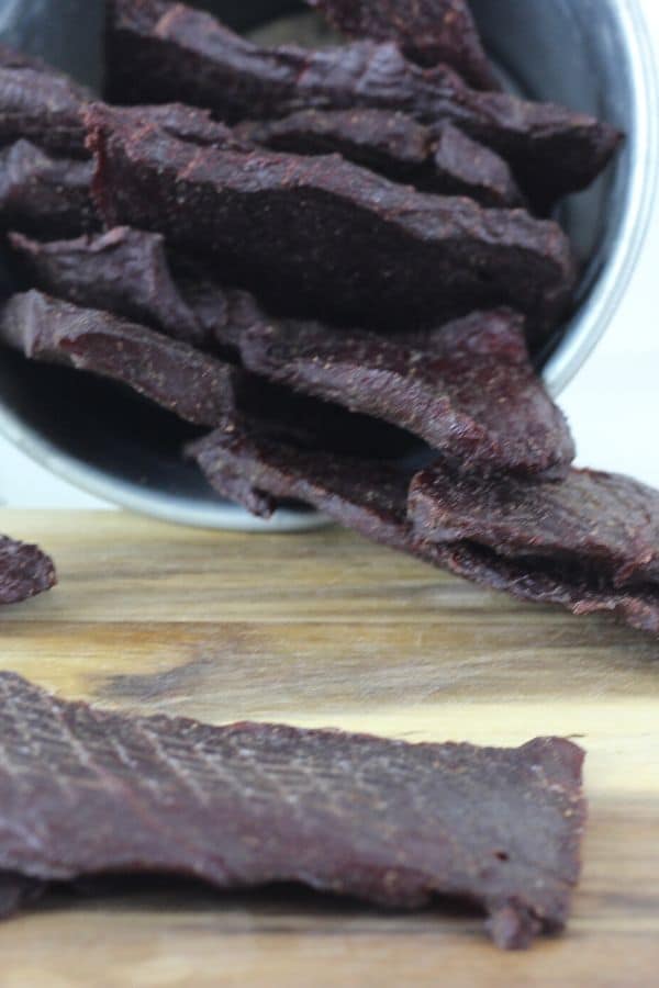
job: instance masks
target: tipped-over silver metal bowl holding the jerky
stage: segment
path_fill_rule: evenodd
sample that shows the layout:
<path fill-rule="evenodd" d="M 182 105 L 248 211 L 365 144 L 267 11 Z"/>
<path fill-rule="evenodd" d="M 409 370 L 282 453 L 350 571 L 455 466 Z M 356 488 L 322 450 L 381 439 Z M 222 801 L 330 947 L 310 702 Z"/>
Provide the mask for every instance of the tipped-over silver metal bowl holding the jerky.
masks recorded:
<path fill-rule="evenodd" d="M 627 133 L 595 187 L 561 206 L 560 221 L 584 265 L 579 307 L 541 355 L 558 394 L 605 332 L 646 234 L 658 171 L 659 99 L 638 0 L 471 0 L 485 44 L 511 87 L 601 116 Z M 295 0 L 206 3 L 250 30 L 301 9 Z M 0 0 L 0 37 L 82 81 L 100 82 L 102 3 Z M 269 523 L 220 499 L 181 462 L 189 435 L 171 416 L 113 385 L 3 353 L 0 431 L 78 486 L 133 510 L 187 525 L 299 530 L 322 524 L 303 508 Z"/>

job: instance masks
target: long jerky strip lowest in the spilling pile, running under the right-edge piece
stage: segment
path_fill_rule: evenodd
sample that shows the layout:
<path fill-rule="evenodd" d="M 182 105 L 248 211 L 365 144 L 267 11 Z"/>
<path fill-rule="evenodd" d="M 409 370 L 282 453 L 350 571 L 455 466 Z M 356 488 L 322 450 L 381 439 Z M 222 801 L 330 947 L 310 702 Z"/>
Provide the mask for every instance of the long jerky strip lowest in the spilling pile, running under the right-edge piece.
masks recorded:
<path fill-rule="evenodd" d="M 276 498 L 297 497 L 375 542 L 415 555 L 481 586 L 577 615 L 606 613 L 659 635 L 659 590 L 614 590 L 565 561 L 513 559 L 469 540 L 433 542 L 407 520 L 413 472 L 359 456 L 323 452 L 254 420 L 233 420 L 190 447 L 212 486 L 256 514 L 271 514 Z M 423 476 L 423 474 L 422 474 Z M 414 483 L 414 489 L 417 484 Z M 534 485 L 535 486 L 535 485 Z"/>

